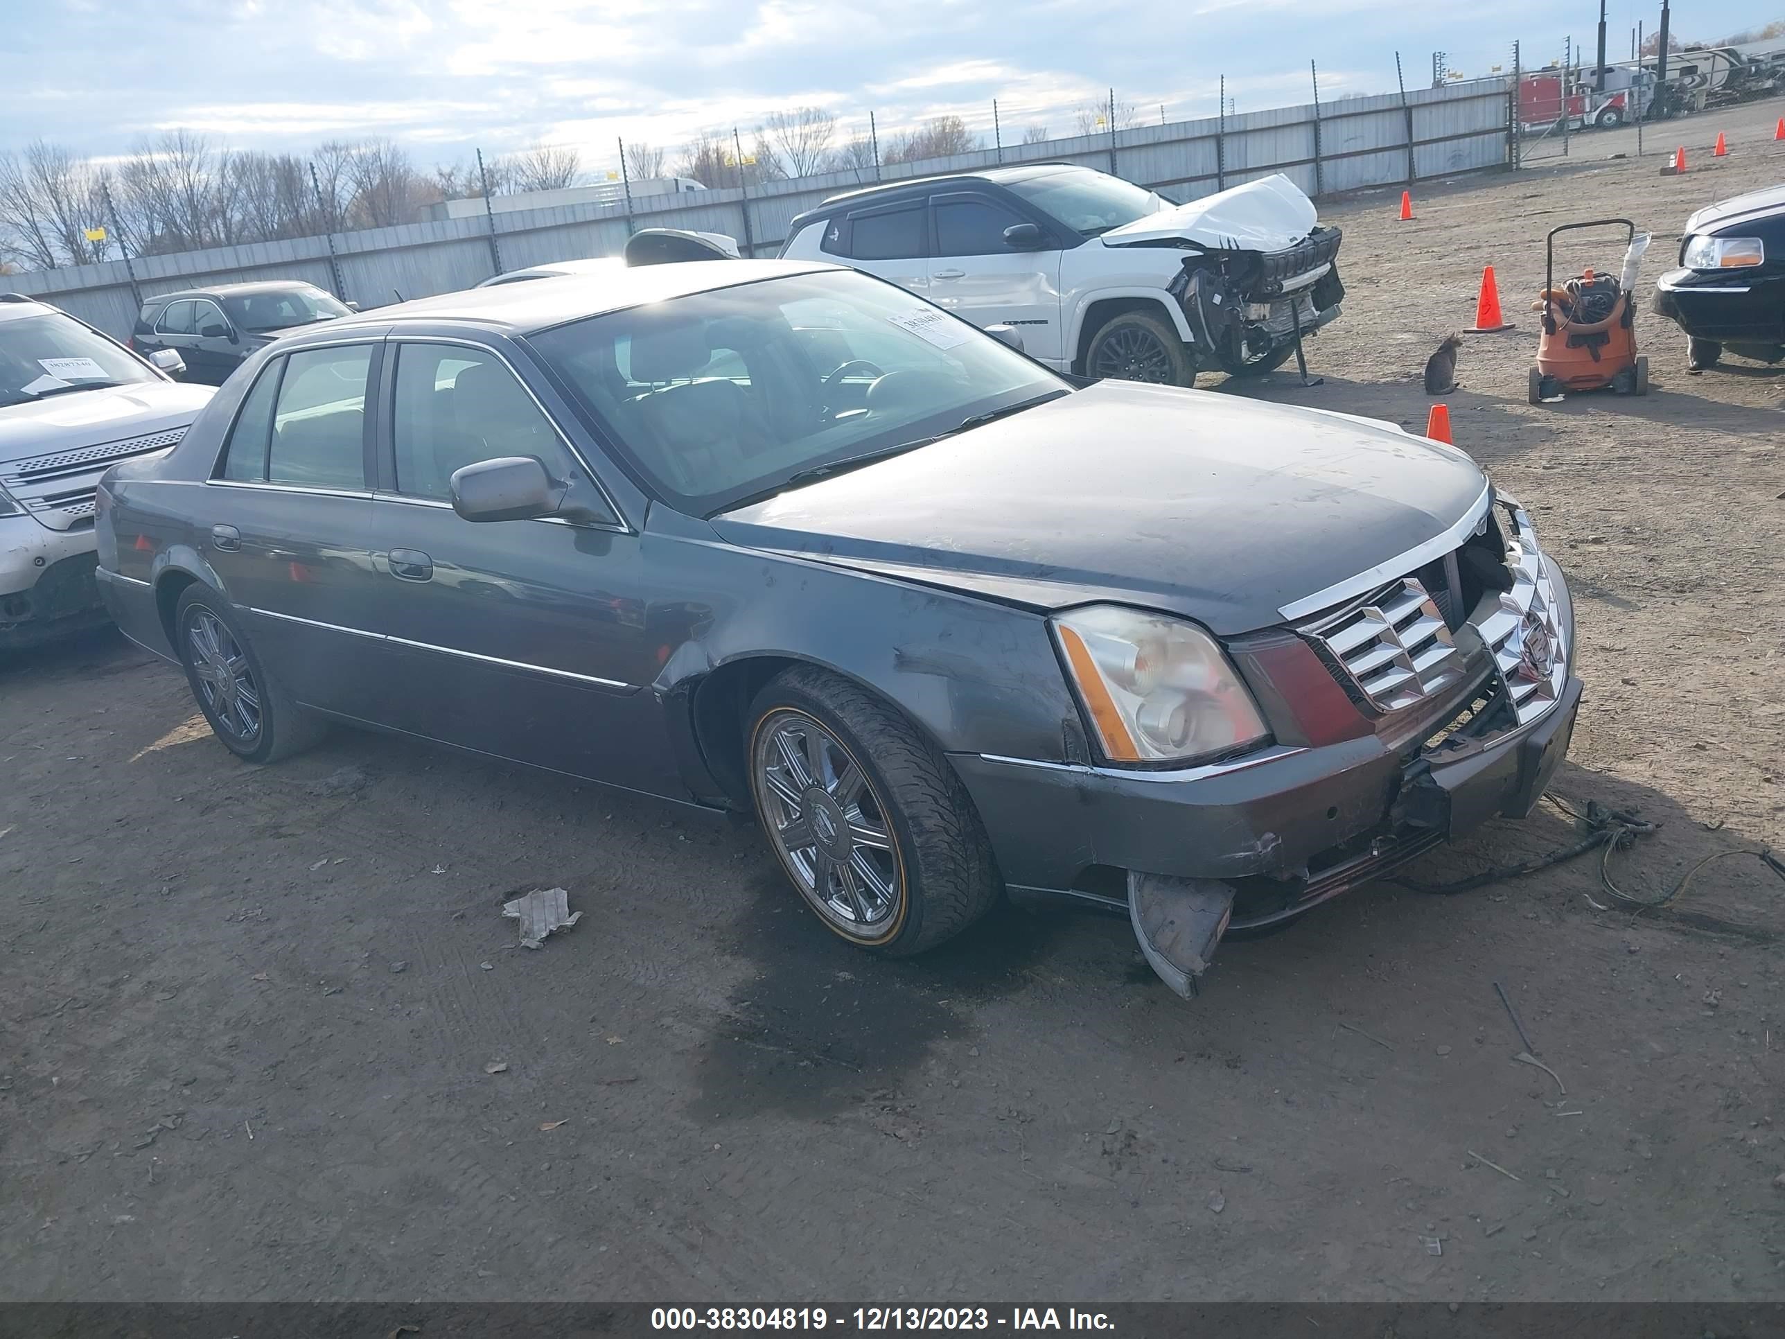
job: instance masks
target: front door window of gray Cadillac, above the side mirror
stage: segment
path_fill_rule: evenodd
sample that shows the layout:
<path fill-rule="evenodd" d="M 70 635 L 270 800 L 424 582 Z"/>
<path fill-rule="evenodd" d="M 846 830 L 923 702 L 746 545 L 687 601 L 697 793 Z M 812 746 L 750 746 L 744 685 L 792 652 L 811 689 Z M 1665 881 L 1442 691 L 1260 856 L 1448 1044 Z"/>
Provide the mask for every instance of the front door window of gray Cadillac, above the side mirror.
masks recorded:
<path fill-rule="evenodd" d="M 452 500 L 452 475 L 498 455 L 532 455 L 553 478 L 577 466 L 552 421 L 494 353 L 464 345 L 402 345 L 391 407 L 396 491 Z"/>

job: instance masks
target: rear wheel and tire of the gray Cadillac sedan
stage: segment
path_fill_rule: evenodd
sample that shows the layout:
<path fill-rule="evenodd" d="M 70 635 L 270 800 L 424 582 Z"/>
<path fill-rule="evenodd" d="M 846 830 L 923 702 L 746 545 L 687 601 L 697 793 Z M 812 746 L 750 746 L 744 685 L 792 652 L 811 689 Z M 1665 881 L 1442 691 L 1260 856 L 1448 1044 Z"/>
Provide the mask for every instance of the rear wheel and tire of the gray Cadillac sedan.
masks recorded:
<path fill-rule="evenodd" d="M 273 678 L 223 596 L 187 586 L 173 612 L 175 648 L 211 732 L 245 762 L 277 762 L 309 748 L 323 725 Z"/>

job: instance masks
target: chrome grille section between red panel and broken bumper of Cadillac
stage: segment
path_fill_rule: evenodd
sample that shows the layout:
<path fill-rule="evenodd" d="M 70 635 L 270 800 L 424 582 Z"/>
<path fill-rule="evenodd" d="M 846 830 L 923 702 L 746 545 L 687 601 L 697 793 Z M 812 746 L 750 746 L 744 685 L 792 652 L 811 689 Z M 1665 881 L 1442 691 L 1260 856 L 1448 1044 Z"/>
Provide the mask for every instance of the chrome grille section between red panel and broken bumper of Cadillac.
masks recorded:
<path fill-rule="evenodd" d="M 1462 680 L 1464 662 L 1424 584 L 1403 577 L 1369 603 L 1307 630 L 1378 711 L 1399 711 Z"/>

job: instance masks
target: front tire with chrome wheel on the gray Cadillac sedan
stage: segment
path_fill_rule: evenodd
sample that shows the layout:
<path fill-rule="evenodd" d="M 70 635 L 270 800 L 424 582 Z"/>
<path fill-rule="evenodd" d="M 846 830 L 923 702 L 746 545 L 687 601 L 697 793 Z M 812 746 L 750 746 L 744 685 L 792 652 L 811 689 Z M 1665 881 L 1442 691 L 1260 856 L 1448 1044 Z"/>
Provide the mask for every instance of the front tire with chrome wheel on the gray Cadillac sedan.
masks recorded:
<path fill-rule="evenodd" d="M 751 703 L 746 744 L 769 848 L 839 939 L 921 953 L 998 902 L 966 787 L 882 700 L 823 670 L 787 670 Z"/>

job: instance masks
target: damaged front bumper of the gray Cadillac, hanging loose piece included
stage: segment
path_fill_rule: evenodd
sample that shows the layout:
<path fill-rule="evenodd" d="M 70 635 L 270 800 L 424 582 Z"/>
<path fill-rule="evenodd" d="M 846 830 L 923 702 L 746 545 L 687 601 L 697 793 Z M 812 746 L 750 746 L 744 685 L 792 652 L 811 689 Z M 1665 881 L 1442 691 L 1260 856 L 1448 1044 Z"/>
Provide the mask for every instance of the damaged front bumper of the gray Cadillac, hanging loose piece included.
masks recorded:
<path fill-rule="evenodd" d="M 1489 818 L 1524 818 L 1567 755 L 1582 684 L 1567 582 L 1535 548 L 1521 561 L 1540 598 L 1517 584 L 1467 625 L 1473 668 L 1412 739 L 1278 744 L 1176 771 L 951 755 L 1012 894 L 1128 914 L 1185 993 L 1226 930 L 1292 919 Z"/>

